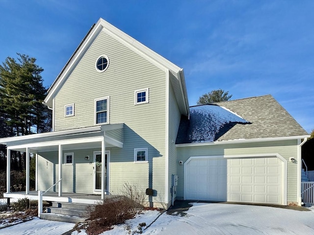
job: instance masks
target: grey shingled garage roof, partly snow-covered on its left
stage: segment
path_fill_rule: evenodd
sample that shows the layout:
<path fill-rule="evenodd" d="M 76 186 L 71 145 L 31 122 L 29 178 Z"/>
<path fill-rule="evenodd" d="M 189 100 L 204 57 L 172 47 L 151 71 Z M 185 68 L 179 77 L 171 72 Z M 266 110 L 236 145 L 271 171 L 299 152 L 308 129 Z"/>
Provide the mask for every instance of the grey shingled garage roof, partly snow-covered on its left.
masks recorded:
<path fill-rule="evenodd" d="M 308 135 L 271 95 L 215 105 L 190 107 L 190 120 L 182 117 L 176 144 Z M 225 118 L 223 107 L 238 118 Z"/>

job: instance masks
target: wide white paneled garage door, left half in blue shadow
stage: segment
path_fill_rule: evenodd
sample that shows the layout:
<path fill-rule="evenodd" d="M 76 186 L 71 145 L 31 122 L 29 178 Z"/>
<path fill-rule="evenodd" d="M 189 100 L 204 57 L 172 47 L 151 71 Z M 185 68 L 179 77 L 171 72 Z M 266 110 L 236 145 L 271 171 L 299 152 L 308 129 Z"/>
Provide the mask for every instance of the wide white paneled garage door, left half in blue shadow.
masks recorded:
<path fill-rule="evenodd" d="M 282 204 L 283 162 L 277 157 L 191 158 L 185 200 Z"/>

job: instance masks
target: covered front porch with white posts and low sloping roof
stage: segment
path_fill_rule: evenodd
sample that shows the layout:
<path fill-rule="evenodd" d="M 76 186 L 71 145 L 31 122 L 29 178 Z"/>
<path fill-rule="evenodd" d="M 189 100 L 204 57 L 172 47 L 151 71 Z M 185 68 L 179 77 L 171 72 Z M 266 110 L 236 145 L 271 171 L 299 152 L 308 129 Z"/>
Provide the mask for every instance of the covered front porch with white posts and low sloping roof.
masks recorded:
<path fill-rule="evenodd" d="M 55 187 L 52 189 L 53 191 L 48 191 L 45 195 L 43 195 L 43 200 L 47 201 L 64 201 L 64 202 L 73 202 L 81 201 L 84 198 L 86 200 L 101 200 L 107 197 L 109 194 L 108 190 L 108 182 L 109 179 L 106 178 L 106 170 L 109 170 L 109 164 L 106 163 L 107 160 L 107 151 L 105 151 L 106 147 L 123 147 L 123 127 L 124 124 L 110 124 L 89 128 L 79 128 L 79 129 L 71 129 L 65 131 L 54 131 L 48 133 L 40 133 L 40 134 L 32 134 L 26 136 L 15 136 L 0 139 L 1 144 L 7 145 L 7 192 L 4 193 L 4 197 L 7 198 L 25 198 L 37 200 L 38 199 L 38 191 L 45 191 L 50 188 L 53 184 L 57 183 Z M 82 149 L 99 149 L 98 157 L 101 157 L 101 164 L 104 162 L 108 167 L 98 167 L 99 172 L 99 193 L 97 195 L 93 192 L 88 191 L 87 193 L 77 193 L 75 190 L 71 192 L 71 190 L 63 188 L 62 176 L 67 172 L 68 168 L 65 167 L 67 163 L 66 157 L 63 156 L 64 152 L 70 152 L 73 150 L 82 150 Z M 11 156 L 11 151 L 20 151 L 26 153 L 26 189 L 25 192 L 10 192 L 10 163 L 9 160 Z M 29 155 L 30 153 L 35 154 L 36 157 L 36 179 L 35 179 L 35 190 L 30 191 L 29 185 Z M 43 174 L 46 174 L 46 171 L 52 171 L 49 169 L 51 165 L 48 165 L 47 161 L 47 169 L 38 169 L 38 153 L 53 153 L 56 159 L 55 164 L 53 164 L 53 169 L 55 171 L 55 176 L 53 179 L 50 179 L 50 185 L 41 185 L 38 187 L 38 178 L 41 178 Z M 101 156 L 100 156 L 101 155 Z M 56 158 L 57 157 L 57 158 Z M 84 156 L 85 157 L 85 156 Z M 75 159 L 75 158 L 74 158 Z M 89 159 L 89 156 L 85 157 L 86 160 Z M 73 160 L 73 159 L 72 159 Z M 100 160 L 99 160 L 100 161 Z M 109 162 L 108 162 L 109 163 Z M 72 162 L 72 164 L 75 164 Z M 89 162 L 92 164 L 92 162 Z M 104 165 L 105 165 L 104 164 Z M 46 168 L 46 167 L 45 167 Z M 93 167 L 94 168 L 94 167 Z M 107 168 L 107 169 L 106 169 Z M 41 171 L 42 174 L 38 175 L 38 171 Z M 65 171 L 65 172 L 63 172 Z M 73 173 L 75 174 L 75 173 Z M 67 179 L 68 181 L 73 179 L 75 180 L 75 176 L 73 178 Z M 52 182 L 53 181 L 53 182 Z M 85 192 L 85 191 L 84 191 Z M 59 199 L 56 199 L 58 197 Z M 50 199 L 50 200 L 48 200 Z M 53 200 L 52 200 L 53 199 Z M 93 201 L 93 202 L 94 202 Z"/>

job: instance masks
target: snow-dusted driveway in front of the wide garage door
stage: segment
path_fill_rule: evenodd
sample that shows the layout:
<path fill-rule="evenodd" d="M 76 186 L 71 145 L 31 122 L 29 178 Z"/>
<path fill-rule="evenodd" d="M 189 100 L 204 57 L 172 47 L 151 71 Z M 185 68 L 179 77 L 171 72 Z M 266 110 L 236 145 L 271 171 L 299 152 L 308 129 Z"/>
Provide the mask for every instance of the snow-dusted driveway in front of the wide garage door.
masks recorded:
<path fill-rule="evenodd" d="M 143 234 L 314 235 L 314 210 L 194 203 L 185 213 L 173 219 L 164 213 Z"/>

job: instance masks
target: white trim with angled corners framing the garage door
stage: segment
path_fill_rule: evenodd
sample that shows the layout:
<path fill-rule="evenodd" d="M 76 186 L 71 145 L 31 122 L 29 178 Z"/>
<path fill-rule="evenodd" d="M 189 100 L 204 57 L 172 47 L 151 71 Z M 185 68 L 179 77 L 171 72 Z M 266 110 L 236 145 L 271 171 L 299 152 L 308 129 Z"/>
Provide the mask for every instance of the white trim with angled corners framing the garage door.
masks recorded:
<path fill-rule="evenodd" d="M 185 162 L 184 162 L 184 194 L 183 194 L 183 199 L 186 200 L 186 195 L 187 195 L 187 164 L 192 160 L 192 159 L 202 159 L 202 158 L 257 158 L 257 157 L 278 157 L 282 162 L 282 172 L 283 172 L 283 177 L 282 177 L 282 204 L 287 205 L 287 160 L 282 157 L 280 154 L 275 153 L 275 154 L 246 154 L 246 155 L 220 155 L 220 156 L 193 156 L 189 157 Z"/>

